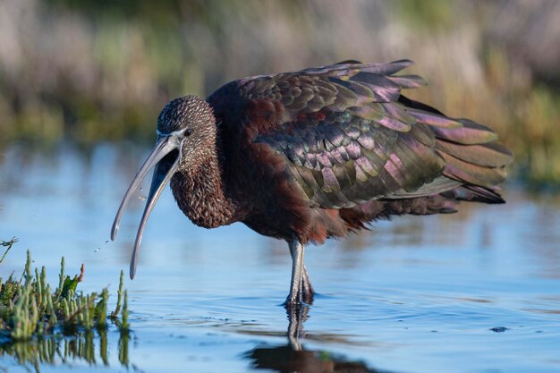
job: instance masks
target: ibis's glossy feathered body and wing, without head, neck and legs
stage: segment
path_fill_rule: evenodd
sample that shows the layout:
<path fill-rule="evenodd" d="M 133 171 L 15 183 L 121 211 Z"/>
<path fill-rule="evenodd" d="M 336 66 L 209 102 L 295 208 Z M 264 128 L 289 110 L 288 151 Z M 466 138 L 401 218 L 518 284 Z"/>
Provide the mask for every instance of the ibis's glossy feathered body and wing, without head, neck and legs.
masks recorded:
<path fill-rule="evenodd" d="M 224 172 L 237 180 L 233 195 L 246 190 L 244 180 L 274 185 L 255 191 L 255 200 L 289 212 L 284 223 L 304 242 L 378 217 L 452 212 L 454 200 L 503 202 L 496 185 L 511 151 L 488 127 L 404 97 L 403 89 L 425 84 L 394 75 L 410 64 L 345 62 L 218 89 L 207 100 L 224 139 Z M 246 160 L 244 170 L 229 168 L 234 157 Z M 245 223 L 267 235 L 290 234 L 264 211 Z"/>

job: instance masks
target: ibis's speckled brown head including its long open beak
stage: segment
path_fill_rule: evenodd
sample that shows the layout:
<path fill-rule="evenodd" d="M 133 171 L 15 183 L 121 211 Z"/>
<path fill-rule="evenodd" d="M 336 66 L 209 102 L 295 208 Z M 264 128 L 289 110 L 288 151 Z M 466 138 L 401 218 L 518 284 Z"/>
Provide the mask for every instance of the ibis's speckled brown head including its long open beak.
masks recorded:
<path fill-rule="evenodd" d="M 115 240 L 121 216 L 132 193 L 140 187 L 149 170 L 154 168 L 151 186 L 146 200 L 146 207 L 140 220 L 131 259 L 131 278 L 136 273 L 136 263 L 142 233 L 148 216 L 156 205 L 157 199 L 165 185 L 177 172 L 188 172 L 198 167 L 208 152 L 215 151 L 216 119 L 208 103 L 197 96 L 175 98 L 165 105 L 157 117 L 157 142 L 134 176 L 128 191 L 124 194 L 113 228 L 111 240 Z"/>

